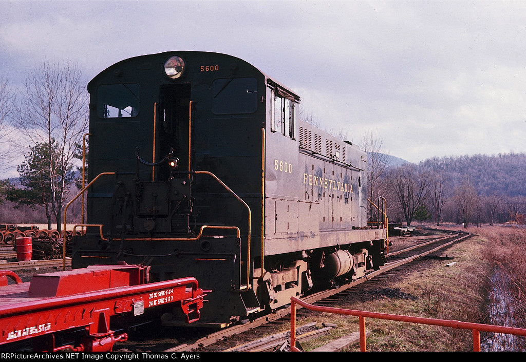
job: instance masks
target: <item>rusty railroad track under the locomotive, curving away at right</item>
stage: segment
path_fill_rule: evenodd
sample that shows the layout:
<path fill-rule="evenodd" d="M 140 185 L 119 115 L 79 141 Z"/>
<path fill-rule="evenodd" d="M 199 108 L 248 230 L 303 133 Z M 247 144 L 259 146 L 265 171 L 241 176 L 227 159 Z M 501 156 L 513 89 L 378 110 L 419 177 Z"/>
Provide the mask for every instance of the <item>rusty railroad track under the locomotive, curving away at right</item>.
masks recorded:
<path fill-rule="evenodd" d="M 404 264 L 414 262 L 419 258 L 428 256 L 433 253 L 437 253 L 440 249 L 447 247 L 453 243 L 457 243 L 460 240 L 466 239 L 471 235 L 464 232 L 451 232 L 449 230 L 437 230 L 442 232 L 440 236 L 425 236 L 425 237 L 415 237 L 412 239 L 413 242 L 416 242 L 415 245 L 396 250 L 392 253 L 389 253 L 387 256 L 388 263 L 381 267 L 379 270 L 372 271 L 367 274 L 365 277 L 353 281 L 350 284 L 341 286 L 335 289 L 329 289 L 320 291 L 315 294 L 311 294 L 302 298 L 307 303 L 314 304 L 319 303 L 320 300 L 326 300 L 328 303 L 333 302 L 338 299 L 338 295 L 346 296 L 352 291 L 349 289 L 357 287 L 362 283 L 366 283 L 369 280 L 380 278 L 382 275 L 389 275 L 393 273 L 393 269 L 399 268 Z M 407 237 L 405 237 L 407 238 Z M 332 299 L 332 300 L 331 300 Z M 287 317 L 290 316 L 290 307 L 279 309 L 274 311 L 274 313 L 265 315 L 254 320 L 246 321 L 244 324 L 234 325 L 226 329 L 221 329 L 210 333 L 206 336 L 187 341 L 186 343 L 179 344 L 174 347 L 165 349 L 167 352 L 176 352 L 176 351 L 195 351 L 195 350 L 206 350 L 206 347 L 217 343 L 218 341 L 224 340 L 233 335 L 240 335 L 247 330 L 255 329 L 260 326 L 268 325 L 270 323 L 284 323 L 288 321 Z"/>

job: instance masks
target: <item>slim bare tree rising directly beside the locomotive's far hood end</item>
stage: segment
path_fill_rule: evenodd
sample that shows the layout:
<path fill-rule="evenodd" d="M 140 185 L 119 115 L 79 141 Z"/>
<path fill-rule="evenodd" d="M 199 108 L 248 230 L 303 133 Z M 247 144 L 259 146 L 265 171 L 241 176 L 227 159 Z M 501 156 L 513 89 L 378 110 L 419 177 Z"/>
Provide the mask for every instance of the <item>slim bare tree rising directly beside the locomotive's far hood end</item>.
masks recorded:
<path fill-rule="evenodd" d="M 388 183 L 385 182 L 391 157 L 383 150 L 383 141 L 375 133 L 363 134 L 361 147 L 367 152 L 367 184 L 369 185 L 368 197 L 376 203 L 379 196 L 385 196 Z M 369 216 L 372 217 L 374 209 L 369 205 Z"/>

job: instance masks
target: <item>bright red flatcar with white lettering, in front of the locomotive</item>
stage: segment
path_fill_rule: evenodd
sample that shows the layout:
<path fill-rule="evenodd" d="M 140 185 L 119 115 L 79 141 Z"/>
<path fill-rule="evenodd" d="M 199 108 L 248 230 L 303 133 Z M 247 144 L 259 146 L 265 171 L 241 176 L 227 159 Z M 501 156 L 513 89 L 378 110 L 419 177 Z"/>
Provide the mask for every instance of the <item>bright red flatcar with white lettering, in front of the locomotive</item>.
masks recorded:
<path fill-rule="evenodd" d="M 127 339 L 114 335 L 110 317 L 133 318 L 179 301 L 188 323 L 199 319 L 206 294 L 195 278 L 144 284 L 146 274 L 143 266 L 97 265 L 22 283 L 0 271 L 0 349 L 110 351 Z"/>

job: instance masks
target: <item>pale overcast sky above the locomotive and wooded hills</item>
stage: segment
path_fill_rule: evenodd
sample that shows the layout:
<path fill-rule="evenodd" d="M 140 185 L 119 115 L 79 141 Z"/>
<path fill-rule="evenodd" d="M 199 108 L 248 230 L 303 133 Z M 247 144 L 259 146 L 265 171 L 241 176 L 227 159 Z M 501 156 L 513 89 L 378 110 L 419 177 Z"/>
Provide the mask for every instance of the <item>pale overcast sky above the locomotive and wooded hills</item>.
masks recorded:
<path fill-rule="evenodd" d="M 376 133 L 410 162 L 526 152 L 526 2 L 0 0 L 14 87 L 43 59 L 76 61 L 88 81 L 176 50 L 245 59 L 325 127 Z"/>

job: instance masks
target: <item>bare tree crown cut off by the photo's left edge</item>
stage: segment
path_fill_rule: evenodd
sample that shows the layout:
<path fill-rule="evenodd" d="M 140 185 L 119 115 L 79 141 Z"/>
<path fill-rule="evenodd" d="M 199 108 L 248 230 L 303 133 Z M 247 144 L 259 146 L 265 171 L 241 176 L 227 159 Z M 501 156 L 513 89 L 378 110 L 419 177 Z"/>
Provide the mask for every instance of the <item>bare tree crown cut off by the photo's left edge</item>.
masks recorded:
<path fill-rule="evenodd" d="M 0 77 L 0 171 L 11 159 L 12 127 L 9 124 L 15 104 L 15 94 L 9 88 L 7 77 Z"/>

